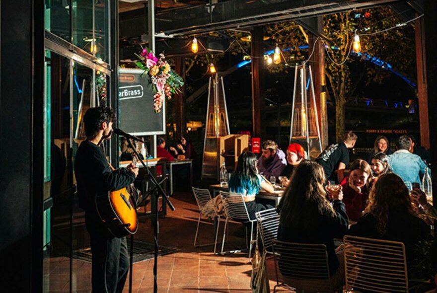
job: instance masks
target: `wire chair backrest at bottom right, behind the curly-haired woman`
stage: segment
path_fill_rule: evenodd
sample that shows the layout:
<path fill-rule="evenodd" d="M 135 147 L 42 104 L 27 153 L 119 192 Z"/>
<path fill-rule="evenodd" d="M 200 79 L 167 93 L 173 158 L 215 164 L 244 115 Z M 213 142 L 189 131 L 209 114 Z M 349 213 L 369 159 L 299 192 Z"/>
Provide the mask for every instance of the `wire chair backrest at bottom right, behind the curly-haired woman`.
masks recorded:
<path fill-rule="evenodd" d="M 346 289 L 408 292 L 402 242 L 344 236 Z"/>

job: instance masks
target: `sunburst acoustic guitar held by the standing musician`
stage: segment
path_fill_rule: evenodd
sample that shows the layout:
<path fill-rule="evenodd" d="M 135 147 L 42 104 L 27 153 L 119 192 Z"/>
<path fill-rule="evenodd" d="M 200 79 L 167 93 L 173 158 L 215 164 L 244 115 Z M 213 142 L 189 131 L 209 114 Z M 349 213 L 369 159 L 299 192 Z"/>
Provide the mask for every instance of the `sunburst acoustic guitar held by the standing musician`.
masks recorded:
<path fill-rule="evenodd" d="M 132 164 L 137 164 L 136 156 L 133 157 Z M 114 170 L 112 166 L 111 168 Z M 135 200 L 126 187 L 111 191 L 107 196 L 96 196 L 95 205 L 100 219 L 114 236 L 124 237 L 137 232 Z"/>

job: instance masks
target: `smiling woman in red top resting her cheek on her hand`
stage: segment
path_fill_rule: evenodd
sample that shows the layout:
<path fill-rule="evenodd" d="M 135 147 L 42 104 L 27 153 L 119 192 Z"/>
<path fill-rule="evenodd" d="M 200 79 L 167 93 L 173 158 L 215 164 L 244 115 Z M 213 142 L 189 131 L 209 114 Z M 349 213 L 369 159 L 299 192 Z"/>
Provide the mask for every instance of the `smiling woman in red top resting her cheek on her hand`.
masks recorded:
<path fill-rule="evenodd" d="M 370 165 L 362 159 L 353 161 L 349 176 L 341 183 L 343 203 L 350 220 L 357 221 L 363 215 L 368 204 L 371 180 Z"/>

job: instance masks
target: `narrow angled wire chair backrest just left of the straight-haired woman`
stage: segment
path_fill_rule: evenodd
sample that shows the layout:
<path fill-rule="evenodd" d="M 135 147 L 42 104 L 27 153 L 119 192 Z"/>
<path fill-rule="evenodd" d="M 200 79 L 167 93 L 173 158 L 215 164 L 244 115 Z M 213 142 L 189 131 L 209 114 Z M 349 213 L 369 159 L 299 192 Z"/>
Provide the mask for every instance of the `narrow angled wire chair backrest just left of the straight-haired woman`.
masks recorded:
<path fill-rule="evenodd" d="M 255 213 L 264 251 L 273 253 L 272 241 L 278 235 L 279 214 L 276 208 Z"/>

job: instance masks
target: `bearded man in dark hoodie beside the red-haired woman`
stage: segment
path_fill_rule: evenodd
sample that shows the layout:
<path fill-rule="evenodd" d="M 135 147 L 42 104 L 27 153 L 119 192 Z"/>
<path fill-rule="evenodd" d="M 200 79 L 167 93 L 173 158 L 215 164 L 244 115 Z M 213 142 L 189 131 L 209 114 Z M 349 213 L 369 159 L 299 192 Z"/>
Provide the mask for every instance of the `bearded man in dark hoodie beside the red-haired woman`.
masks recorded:
<path fill-rule="evenodd" d="M 286 163 L 279 156 L 280 149 L 274 141 L 265 141 L 262 145 L 262 154 L 258 159 L 258 172 L 270 181 L 270 176 L 275 176 L 276 181 L 286 167 Z"/>

